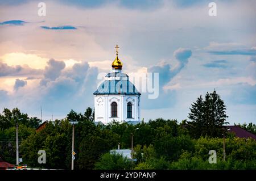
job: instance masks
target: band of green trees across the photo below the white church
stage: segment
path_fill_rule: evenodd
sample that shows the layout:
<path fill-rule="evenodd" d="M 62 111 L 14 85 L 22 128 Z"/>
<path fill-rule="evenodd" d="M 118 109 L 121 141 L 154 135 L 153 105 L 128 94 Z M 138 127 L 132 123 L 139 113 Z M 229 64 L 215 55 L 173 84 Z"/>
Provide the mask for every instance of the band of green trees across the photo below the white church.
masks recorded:
<path fill-rule="evenodd" d="M 36 132 L 39 119 L 29 118 L 17 108 L 5 109 L 0 114 L 0 157 L 15 163 L 15 123 L 19 120 L 23 163 L 28 167 L 71 169 L 72 125 L 69 121 L 73 120 L 78 121 L 75 125 L 75 169 L 256 169 L 256 141 L 225 133 L 224 102 L 214 94 L 216 92 L 193 103 L 189 114 L 191 121 L 181 123 L 156 119 L 137 125 L 115 121 L 96 125 L 93 110 L 87 108 L 84 113 L 72 110 L 65 119 L 48 121 L 44 129 Z M 255 124 L 243 124 L 242 127 L 256 130 Z M 137 161 L 110 154 L 110 150 L 118 149 L 118 144 L 121 149 L 131 149 L 131 133 L 133 158 Z M 223 133 L 226 135 L 226 161 L 223 161 Z M 38 163 L 39 150 L 46 151 L 46 164 Z M 208 162 L 209 150 L 216 150 L 216 164 Z"/>

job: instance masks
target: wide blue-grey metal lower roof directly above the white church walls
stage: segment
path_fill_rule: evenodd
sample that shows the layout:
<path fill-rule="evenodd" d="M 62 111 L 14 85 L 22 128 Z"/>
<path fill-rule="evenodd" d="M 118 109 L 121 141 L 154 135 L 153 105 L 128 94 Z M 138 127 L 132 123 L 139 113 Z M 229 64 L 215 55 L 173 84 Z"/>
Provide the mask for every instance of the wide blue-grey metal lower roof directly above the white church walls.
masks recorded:
<path fill-rule="evenodd" d="M 128 80 L 106 80 L 93 93 L 98 94 L 126 94 L 126 95 L 141 95 L 135 88 L 133 83 Z"/>

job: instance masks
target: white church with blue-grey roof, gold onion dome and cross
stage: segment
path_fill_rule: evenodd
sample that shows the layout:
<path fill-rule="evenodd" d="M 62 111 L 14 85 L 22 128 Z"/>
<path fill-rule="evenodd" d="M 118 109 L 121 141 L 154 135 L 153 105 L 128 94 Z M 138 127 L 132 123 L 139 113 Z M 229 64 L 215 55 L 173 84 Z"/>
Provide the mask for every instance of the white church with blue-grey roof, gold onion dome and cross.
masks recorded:
<path fill-rule="evenodd" d="M 122 73 L 122 62 L 117 57 L 112 63 L 112 70 L 106 74 L 94 94 L 94 121 L 108 124 L 118 122 L 135 123 L 141 121 L 141 93 L 129 81 L 129 76 Z M 133 122 L 134 121 L 134 122 Z"/>

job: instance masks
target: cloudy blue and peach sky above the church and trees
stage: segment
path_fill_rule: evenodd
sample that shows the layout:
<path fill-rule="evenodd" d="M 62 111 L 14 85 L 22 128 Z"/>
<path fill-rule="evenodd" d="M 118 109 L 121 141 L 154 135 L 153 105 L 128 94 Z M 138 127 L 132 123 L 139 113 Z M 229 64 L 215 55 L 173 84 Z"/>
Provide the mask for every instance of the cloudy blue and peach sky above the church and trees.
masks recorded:
<path fill-rule="evenodd" d="M 93 107 L 98 74 L 119 45 L 123 71 L 159 73 L 159 97 L 142 94 L 145 120 L 187 119 L 216 89 L 230 124 L 256 123 L 256 2 L 0 1 L 0 111 L 43 120 Z"/>

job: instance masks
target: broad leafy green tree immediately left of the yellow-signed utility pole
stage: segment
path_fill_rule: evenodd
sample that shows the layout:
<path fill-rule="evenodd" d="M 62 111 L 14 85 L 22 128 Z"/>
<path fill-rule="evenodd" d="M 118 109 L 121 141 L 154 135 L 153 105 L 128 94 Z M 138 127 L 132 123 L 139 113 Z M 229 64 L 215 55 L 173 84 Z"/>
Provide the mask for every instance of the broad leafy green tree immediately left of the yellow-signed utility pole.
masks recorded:
<path fill-rule="evenodd" d="M 47 169 L 67 169 L 71 162 L 72 125 L 68 120 L 55 120 L 46 123 L 46 127 L 36 134 L 31 134 L 20 145 L 23 162 L 30 167 Z M 38 163 L 38 151 L 46 151 L 46 164 Z M 70 160 L 70 159 L 69 159 Z"/>

